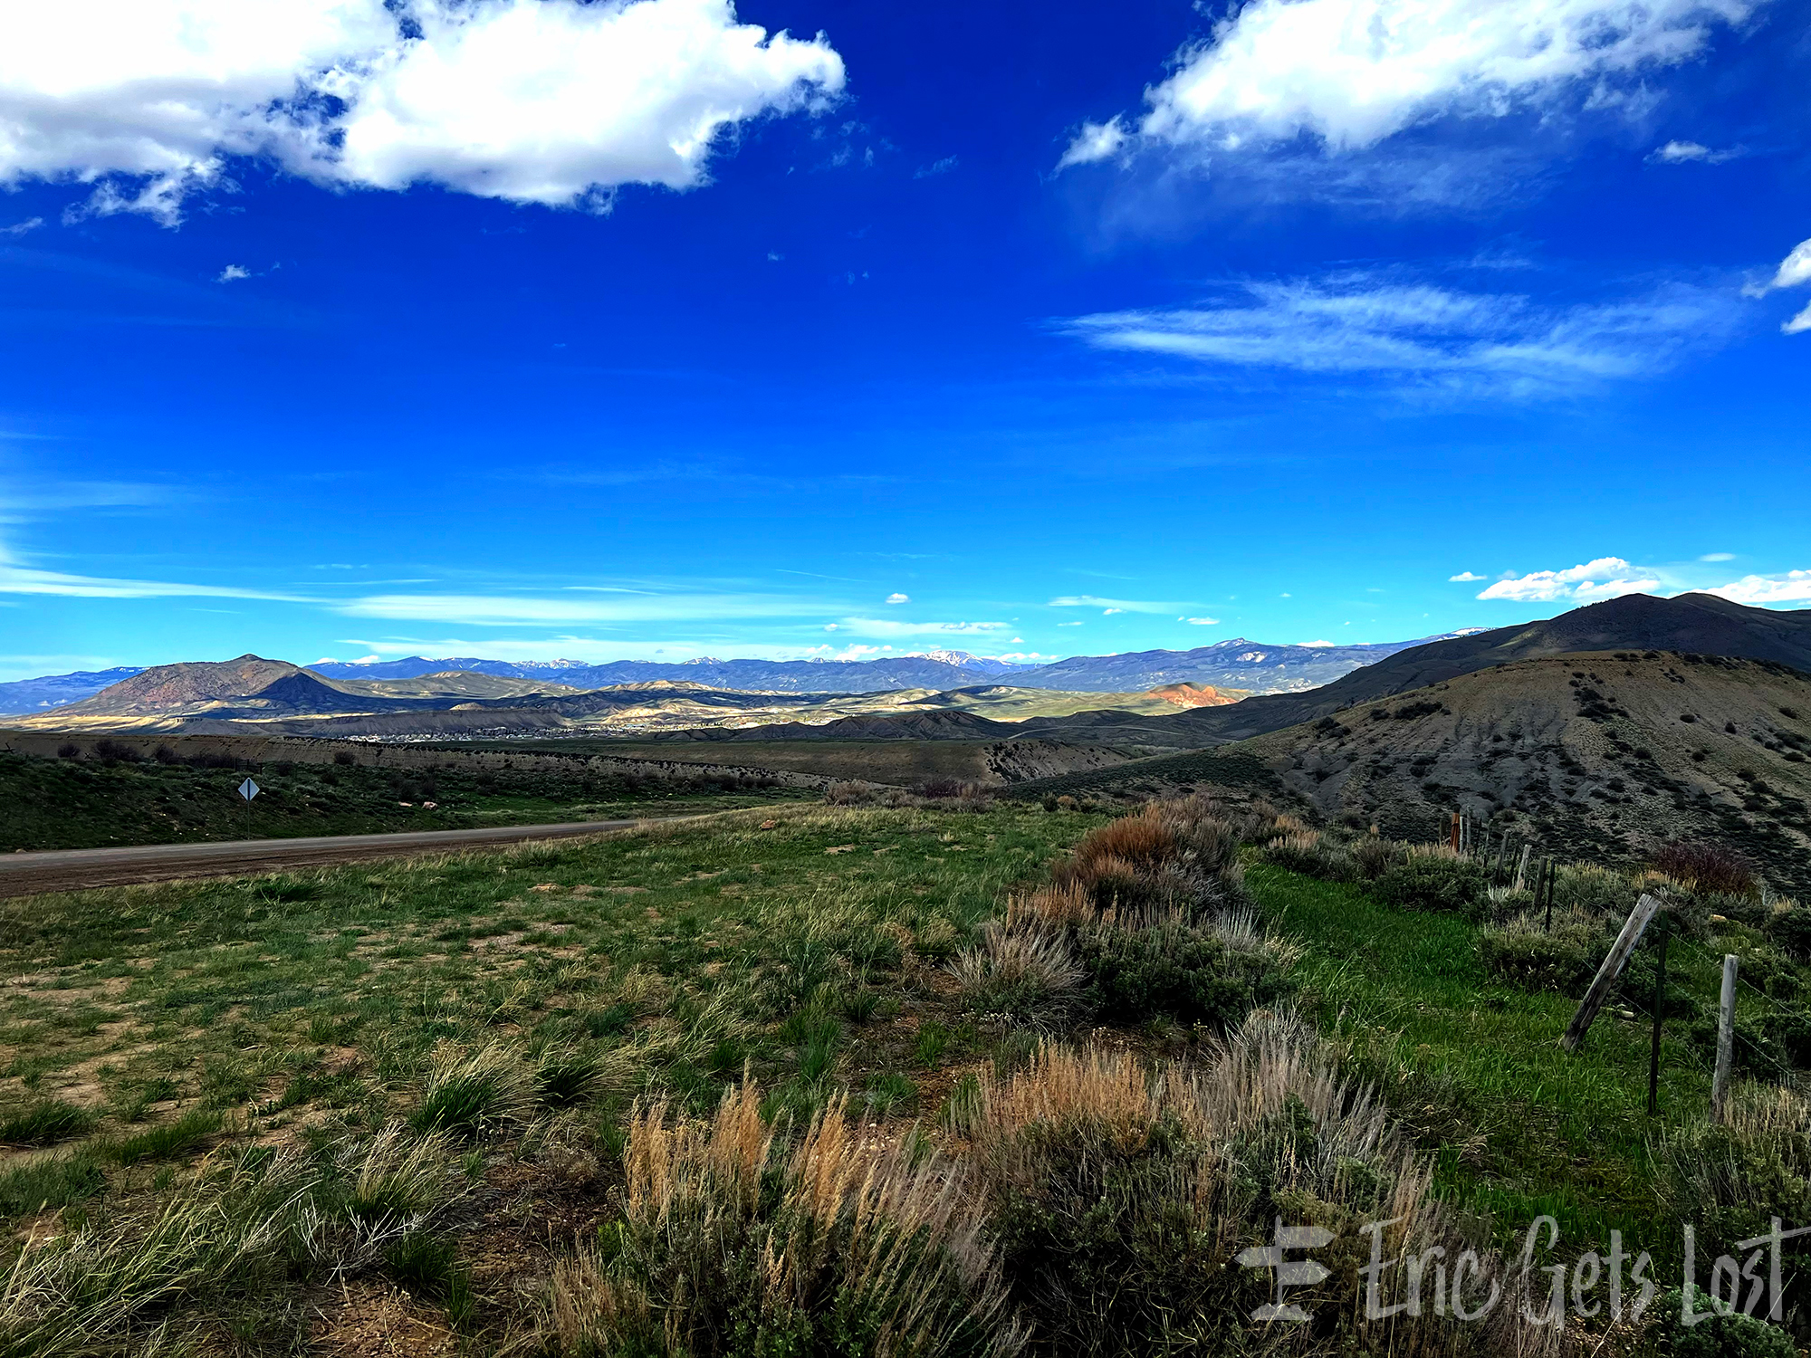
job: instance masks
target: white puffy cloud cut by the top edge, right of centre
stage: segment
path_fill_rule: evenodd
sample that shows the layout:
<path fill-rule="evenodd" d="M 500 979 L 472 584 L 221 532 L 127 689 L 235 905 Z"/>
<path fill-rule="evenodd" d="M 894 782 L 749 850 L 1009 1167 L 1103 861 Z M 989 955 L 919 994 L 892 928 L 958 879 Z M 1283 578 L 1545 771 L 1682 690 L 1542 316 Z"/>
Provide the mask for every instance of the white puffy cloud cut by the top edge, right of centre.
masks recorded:
<path fill-rule="evenodd" d="M 1253 0 L 1177 53 L 1135 118 L 1088 123 L 1065 165 L 1130 139 L 1237 154 L 1364 150 L 1436 118 L 1603 105 L 1699 54 L 1746 0 Z"/>

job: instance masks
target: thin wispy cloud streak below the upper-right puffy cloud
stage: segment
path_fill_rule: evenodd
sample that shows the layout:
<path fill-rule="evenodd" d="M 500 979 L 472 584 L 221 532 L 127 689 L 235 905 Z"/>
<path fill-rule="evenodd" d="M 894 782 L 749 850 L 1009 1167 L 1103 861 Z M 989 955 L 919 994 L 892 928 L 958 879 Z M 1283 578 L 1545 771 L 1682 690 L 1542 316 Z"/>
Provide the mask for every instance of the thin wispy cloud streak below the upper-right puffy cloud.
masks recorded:
<path fill-rule="evenodd" d="M 1099 311 L 1059 330 L 1101 349 L 1221 369 L 1536 397 L 1661 373 L 1733 333 L 1737 319 L 1733 290 L 1684 282 L 1556 304 L 1347 272 L 1230 284 L 1195 306 Z"/>

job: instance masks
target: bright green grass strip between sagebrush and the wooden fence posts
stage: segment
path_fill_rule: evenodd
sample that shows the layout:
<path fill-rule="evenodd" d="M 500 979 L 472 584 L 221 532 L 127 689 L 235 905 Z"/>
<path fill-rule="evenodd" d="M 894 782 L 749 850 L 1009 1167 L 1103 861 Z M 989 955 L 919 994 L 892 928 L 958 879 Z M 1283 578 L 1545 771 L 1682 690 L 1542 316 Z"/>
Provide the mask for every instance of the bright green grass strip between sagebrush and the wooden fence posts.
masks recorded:
<path fill-rule="evenodd" d="M 1606 1007 L 1583 1048 L 1563 1052 L 1577 1001 L 1492 983 L 1467 920 L 1396 911 L 1362 887 L 1271 865 L 1251 865 L 1246 882 L 1306 949 L 1304 1009 L 1349 1047 L 1355 1072 L 1420 1121 L 1443 1197 L 1505 1237 L 1547 1213 L 1563 1238 L 1621 1229 L 1655 1253 L 1677 1248 L 1648 1139 L 1708 1112 L 1702 1054 L 1682 1036 L 1662 1041 L 1661 1117 L 1650 1119 L 1644 1021 Z M 1670 965 L 1677 978 L 1684 952 Z"/>

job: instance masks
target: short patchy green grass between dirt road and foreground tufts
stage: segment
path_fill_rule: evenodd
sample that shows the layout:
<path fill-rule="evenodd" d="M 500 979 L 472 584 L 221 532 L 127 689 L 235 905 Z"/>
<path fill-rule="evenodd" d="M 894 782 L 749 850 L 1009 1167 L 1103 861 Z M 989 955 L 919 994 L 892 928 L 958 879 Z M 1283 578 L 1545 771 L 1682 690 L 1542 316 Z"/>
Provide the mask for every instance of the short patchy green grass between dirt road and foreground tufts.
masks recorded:
<path fill-rule="evenodd" d="M 915 1010 L 934 998 L 902 989 L 906 949 L 934 969 L 1094 824 L 793 806 L 0 902 L 0 978 L 33 978 L 0 989 L 0 1106 L 100 1085 L 96 1144 L 125 1164 L 192 1157 L 239 1117 L 255 1132 L 388 1108 L 476 1132 L 493 1090 L 409 1094 L 436 1043 L 523 1050 L 527 1101 L 549 1108 L 645 1092 L 704 1106 L 744 1061 L 773 1083 L 860 1086 L 913 1068 L 924 1041 Z M 71 1021 L 98 1005 L 105 1023 Z"/>

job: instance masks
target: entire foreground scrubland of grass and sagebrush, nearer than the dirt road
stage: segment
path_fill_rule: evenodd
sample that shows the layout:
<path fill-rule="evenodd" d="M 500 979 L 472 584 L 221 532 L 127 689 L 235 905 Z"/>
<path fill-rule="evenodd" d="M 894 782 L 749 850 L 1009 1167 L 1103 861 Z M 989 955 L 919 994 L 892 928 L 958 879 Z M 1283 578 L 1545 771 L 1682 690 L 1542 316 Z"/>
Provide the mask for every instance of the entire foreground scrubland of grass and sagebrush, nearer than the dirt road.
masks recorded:
<path fill-rule="evenodd" d="M 1811 1224 L 1811 927 L 1739 862 L 1567 865 L 1548 931 L 1487 865 L 1262 802 L 1052 808 L 764 808 L 0 904 L 0 1351 L 1786 1342 L 1358 1300 L 1384 1222 L 1387 1258 L 1512 1295 L 1539 1215 L 1543 1266 L 1614 1229 L 1672 1277 L 1688 1220 L 1708 1253 Z M 1673 931 L 1653 1119 L 1648 952 L 1557 1050 L 1643 889 Z M 1724 951 L 1758 989 L 1713 1126 Z M 1275 1278 L 1239 1255 L 1279 1220 L 1331 1238 L 1308 1320 L 1251 1318 Z"/>

